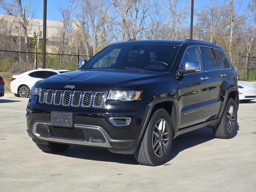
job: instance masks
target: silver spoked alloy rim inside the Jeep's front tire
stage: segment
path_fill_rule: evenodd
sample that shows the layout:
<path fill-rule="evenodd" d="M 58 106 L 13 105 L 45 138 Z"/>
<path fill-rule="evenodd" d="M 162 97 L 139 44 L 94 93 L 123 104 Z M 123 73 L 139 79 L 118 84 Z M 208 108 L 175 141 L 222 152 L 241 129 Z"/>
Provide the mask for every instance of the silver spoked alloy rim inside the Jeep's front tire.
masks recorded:
<path fill-rule="evenodd" d="M 161 157 L 164 155 L 169 142 L 168 135 L 169 127 L 166 120 L 158 120 L 152 136 L 152 145 L 156 156 Z"/>

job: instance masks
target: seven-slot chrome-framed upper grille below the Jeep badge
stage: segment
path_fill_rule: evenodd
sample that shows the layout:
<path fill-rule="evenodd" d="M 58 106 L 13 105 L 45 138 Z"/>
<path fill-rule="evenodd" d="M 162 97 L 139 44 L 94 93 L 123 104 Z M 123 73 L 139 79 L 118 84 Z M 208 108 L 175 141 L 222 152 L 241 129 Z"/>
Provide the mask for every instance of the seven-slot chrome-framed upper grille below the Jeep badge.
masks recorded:
<path fill-rule="evenodd" d="M 72 107 L 102 107 L 107 92 L 42 89 L 38 102 Z"/>

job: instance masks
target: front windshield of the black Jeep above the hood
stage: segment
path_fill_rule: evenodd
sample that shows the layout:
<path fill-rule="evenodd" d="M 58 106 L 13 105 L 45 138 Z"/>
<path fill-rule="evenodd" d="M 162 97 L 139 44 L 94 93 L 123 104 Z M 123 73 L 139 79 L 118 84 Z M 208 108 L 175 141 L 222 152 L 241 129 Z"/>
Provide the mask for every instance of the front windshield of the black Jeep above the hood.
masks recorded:
<path fill-rule="evenodd" d="M 80 69 L 120 68 L 166 71 L 172 66 L 178 46 L 156 44 L 112 45 L 92 57 Z"/>

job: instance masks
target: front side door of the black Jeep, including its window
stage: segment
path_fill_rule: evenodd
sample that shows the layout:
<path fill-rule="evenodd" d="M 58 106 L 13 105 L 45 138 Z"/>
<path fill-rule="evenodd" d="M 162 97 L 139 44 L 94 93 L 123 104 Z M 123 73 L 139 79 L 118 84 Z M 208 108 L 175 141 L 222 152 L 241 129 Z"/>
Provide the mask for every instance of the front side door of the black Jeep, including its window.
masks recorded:
<path fill-rule="evenodd" d="M 201 62 L 197 46 L 186 48 L 180 69 L 184 69 L 185 62 Z M 209 99 L 209 80 L 205 71 L 184 74 L 180 78 L 178 86 L 181 111 L 180 111 L 180 128 L 191 126 L 206 121 L 208 118 L 208 99 Z"/>

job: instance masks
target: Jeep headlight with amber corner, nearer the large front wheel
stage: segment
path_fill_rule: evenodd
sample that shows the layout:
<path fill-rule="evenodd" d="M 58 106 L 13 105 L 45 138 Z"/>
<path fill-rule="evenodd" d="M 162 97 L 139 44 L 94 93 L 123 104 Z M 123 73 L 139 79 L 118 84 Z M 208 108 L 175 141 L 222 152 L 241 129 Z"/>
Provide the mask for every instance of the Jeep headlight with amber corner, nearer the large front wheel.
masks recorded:
<path fill-rule="evenodd" d="M 121 101 L 136 101 L 140 98 L 140 91 L 110 91 L 108 99 Z"/>

